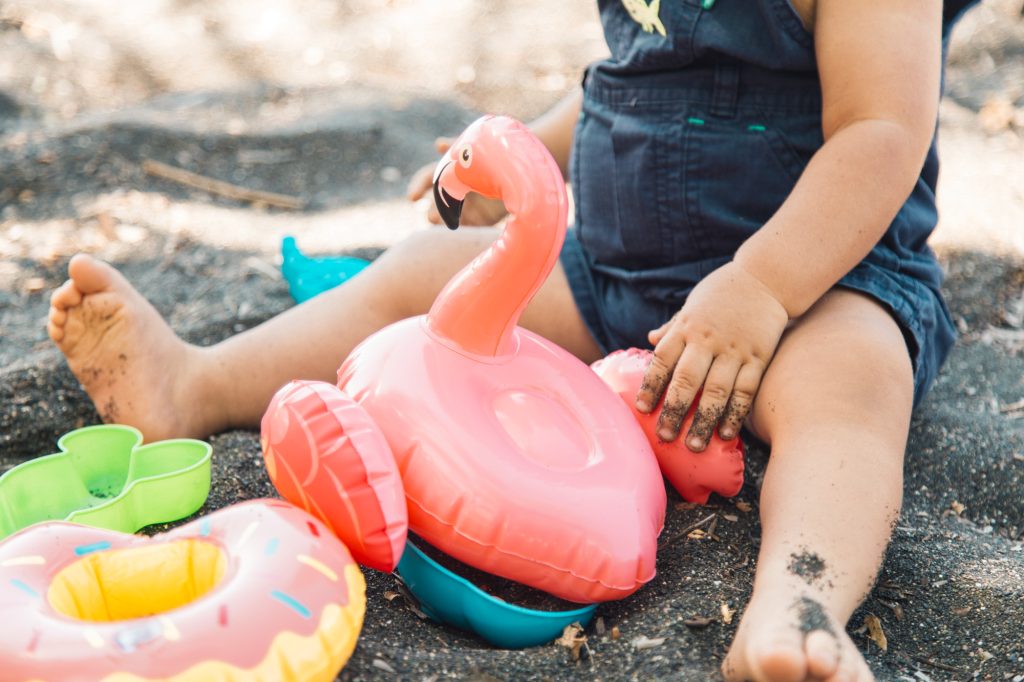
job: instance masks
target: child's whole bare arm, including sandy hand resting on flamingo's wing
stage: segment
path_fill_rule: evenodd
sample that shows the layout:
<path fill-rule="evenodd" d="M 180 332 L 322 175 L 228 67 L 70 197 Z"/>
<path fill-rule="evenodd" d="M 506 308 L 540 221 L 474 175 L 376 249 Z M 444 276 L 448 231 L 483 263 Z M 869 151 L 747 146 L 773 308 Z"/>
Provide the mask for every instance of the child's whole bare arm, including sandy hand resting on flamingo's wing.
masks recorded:
<path fill-rule="evenodd" d="M 798 317 L 885 233 L 931 142 L 941 73 L 939 2 L 819 0 L 814 34 L 825 142 L 779 210 L 651 333 L 655 359 L 637 396 L 666 391 L 673 439 L 703 386 L 687 444 L 716 424 L 738 431 L 788 318 Z"/>

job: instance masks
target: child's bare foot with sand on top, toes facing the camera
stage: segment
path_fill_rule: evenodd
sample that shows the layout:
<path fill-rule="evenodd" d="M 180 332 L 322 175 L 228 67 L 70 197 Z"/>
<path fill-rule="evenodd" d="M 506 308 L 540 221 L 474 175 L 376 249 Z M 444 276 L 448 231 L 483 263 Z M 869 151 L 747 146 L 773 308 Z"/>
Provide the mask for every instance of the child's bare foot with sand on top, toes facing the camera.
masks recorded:
<path fill-rule="evenodd" d="M 869 682 L 874 677 L 819 596 L 778 586 L 751 599 L 729 654 L 728 682 Z"/>

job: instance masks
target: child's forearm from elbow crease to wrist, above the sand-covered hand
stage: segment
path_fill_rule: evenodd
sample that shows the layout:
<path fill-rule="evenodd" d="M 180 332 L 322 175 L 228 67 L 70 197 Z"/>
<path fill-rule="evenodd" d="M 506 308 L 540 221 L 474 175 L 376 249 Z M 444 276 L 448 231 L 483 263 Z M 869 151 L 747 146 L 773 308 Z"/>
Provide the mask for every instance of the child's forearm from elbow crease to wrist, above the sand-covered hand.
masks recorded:
<path fill-rule="evenodd" d="M 930 131 L 891 120 L 850 123 L 811 159 L 735 262 L 761 280 L 791 317 L 800 316 L 885 233 L 913 188 L 930 139 Z"/>

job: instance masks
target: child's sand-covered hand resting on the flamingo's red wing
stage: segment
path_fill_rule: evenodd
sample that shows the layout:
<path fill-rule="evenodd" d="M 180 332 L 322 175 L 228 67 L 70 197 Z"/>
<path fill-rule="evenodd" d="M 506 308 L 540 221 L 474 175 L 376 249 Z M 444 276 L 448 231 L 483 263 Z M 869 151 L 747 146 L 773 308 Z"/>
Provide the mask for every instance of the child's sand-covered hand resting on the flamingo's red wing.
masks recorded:
<path fill-rule="evenodd" d="M 687 447 L 702 451 L 719 421 L 721 436 L 735 437 L 787 322 L 785 308 L 764 284 L 734 262 L 723 265 L 650 333 L 654 356 L 637 393 L 637 410 L 649 413 L 666 393 L 657 434 L 675 440 L 703 386 Z"/>

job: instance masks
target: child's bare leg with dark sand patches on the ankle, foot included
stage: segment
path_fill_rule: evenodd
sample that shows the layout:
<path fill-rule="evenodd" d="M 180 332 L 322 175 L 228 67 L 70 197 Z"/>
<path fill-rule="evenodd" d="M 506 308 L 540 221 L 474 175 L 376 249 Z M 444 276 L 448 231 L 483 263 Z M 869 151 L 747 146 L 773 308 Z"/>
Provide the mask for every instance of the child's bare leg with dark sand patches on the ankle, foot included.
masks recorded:
<path fill-rule="evenodd" d="M 751 416 L 771 443 L 754 594 L 727 680 L 870 680 L 845 632 L 902 497 L 913 383 L 903 336 L 834 290 L 782 338 Z"/>

